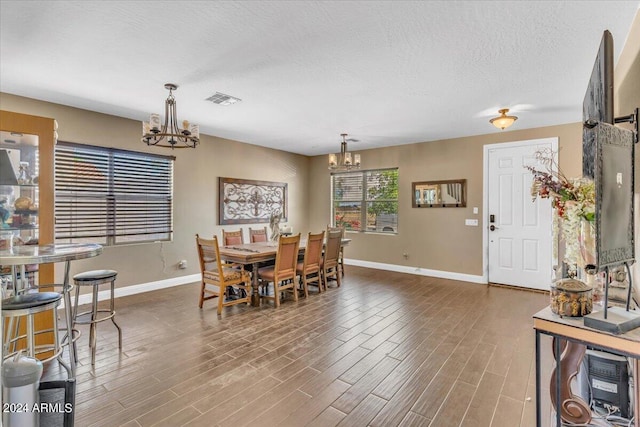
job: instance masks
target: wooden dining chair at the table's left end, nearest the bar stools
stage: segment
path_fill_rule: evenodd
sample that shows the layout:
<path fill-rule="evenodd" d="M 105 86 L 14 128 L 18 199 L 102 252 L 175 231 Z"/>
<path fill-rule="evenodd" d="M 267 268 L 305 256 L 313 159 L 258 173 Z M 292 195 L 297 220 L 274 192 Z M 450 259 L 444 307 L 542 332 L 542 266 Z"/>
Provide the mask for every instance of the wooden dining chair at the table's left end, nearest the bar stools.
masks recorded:
<path fill-rule="evenodd" d="M 251 277 L 243 268 L 231 268 L 223 264 L 220 260 L 220 248 L 218 237 L 213 239 L 203 239 L 196 234 L 196 244 L 198 247 L 198 258 L 200 259 L 200 271 L 202 272 L 202 286 L 200 288 L 200 308 L 204 301 L 218 298 L 218 314 L 222 313 L 222 307 L 251 302 Z M 207 286 L 211 285 L 211 286 Z M 216 289 L 217 288 L 217 289 Z M 231 299 L 226 292 L 230 288 L 235 288 L 241 292 L 235 295 L 241 297 Z"/>

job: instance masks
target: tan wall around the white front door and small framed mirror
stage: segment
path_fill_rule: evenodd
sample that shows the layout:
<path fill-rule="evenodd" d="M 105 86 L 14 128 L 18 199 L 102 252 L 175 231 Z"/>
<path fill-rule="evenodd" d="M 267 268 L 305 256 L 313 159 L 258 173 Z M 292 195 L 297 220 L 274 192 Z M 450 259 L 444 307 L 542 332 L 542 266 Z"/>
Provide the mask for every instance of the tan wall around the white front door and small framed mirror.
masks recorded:
<path fill-rule="evenodd" d="M 524 121 L 523 117 L 521 121 Z M 515 126 L 515 125 L 514 125 Z M 487 131 L 491 127 L 487 122 Z M 582 171 L 580 123 L 488 135 L 423 142 L 360 151 L 366 169 L 399 168 L 399 220 L 397 235 L 348 233 L 352 238 L 345 257 L 401 266 L 482 275 L 482 226 L 465 226 L 466 218 L 483 212 L 483 146 L 502 142 L 558 137 L 560 167 L 568 176 Z M 467 180 L 466 208 L 412 208 L 411 183 Z M 309 224 L 320 230 L 330 221 L 330 175 L 326 156 L 311 162 Z M 473 207 L 478 207 L 477 215 Z M 408 253 L 408 259 L 403 254 Z"/>

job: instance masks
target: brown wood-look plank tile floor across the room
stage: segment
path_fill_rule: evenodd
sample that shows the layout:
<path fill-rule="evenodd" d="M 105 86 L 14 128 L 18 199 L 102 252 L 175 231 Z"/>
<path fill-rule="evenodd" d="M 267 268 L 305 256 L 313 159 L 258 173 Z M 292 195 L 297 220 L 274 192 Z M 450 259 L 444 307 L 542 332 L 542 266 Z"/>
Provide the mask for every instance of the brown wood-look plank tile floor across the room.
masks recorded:
<path fill-rule="evenodd" d="M 122 352 L 100 323 L 92 368 L 82 329 L 76 425 L 535 425 L 532 315 L 546 295 L 346 273 L 308 300 L 220 317 L 215 301 L 198 308 L 195 283 L 116 299 Z"/>

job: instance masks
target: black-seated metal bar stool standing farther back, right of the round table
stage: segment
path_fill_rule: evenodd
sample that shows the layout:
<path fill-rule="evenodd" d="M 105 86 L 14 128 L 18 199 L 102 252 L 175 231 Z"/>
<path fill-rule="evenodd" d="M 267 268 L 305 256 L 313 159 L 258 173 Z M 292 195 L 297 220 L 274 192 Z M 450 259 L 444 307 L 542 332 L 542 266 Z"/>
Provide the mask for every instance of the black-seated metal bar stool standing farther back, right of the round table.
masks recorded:
<path fill-rule="evenodd" d="M 91 365 L 95 365 L 96 362 L 96 324 L 111 319 L 114 326 L 118 329 L 118 348 L 122 350 L 122 330 L 114 319 L 116 311 L 114 309 L 114 291 L 117 271 L 114 270 L 92 270 L 84 273 L 79 273 L 73 276 L 73 282 L 76 285 L 76 298 L 75 306 L 73 309 L 73 324 L 90 325 L 89 327 L 89 347 L 91 347 Z M 111 294 L 109 298 L 110 306 L 106 308 L 98 308 L 98 288 L 100 285 L 110 283 Z M 93 287 L 91 298 L 91 309 L 78 313 L 78 300 L 80 298 L 80 287 L 91 286 Z M 106 316 L 98 317 L 98 313 L 107 313 Z M 79 319 L 81 316 L 91 315 L 88 320 Z"/>

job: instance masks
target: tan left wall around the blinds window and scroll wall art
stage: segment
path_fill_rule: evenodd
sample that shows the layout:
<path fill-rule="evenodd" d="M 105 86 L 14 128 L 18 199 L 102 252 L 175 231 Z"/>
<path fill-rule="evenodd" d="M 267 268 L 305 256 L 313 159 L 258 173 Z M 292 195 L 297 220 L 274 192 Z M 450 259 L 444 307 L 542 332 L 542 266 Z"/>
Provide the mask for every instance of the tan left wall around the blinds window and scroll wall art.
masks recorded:
<path fill-rule="evenodd" d="M 96 268 L 118 271 L 123 287 L 199 273 L 195 234 L 221 235 L 218 219 L 218 177 L 288 183 L 289 221 L 294 230 L 306 229 L 309 158 L 236 141 L 203 135 L 195 150 L 173 152 L 140 142 L 139 121 L 80 110 L 29 98 L 0 94 L 0 108 L 52 117 L 58 121 L 60 141 L 175 155 L 174 236 L 172 242 L 106 247 L 102 255 L 72 263 L 72 273 Z M 237 229 L 239 226 L 225 226 Z M 242 225 L 248 237 L 249 225 Z M 189 268 L 178 270 L 186 259 Z M 56 267 L 56 275 L 61 278 Z"/>

